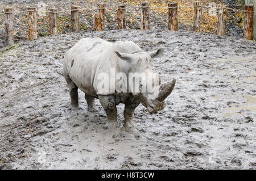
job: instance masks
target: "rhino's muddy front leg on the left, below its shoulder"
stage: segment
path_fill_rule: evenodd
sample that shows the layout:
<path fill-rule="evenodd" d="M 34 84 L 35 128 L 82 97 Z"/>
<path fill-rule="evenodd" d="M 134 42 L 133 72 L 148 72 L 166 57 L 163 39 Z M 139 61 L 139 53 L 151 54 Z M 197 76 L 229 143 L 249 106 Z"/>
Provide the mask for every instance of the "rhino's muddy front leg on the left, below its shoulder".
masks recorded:
<path fill-rule="evenodd" d="M 119 127 L 117 123 L 117 107 L 115 107 L 115 98 L 113 95 L 99 95 L 98 99 L 104 108 L 107 116 L 107 127 Z"/>

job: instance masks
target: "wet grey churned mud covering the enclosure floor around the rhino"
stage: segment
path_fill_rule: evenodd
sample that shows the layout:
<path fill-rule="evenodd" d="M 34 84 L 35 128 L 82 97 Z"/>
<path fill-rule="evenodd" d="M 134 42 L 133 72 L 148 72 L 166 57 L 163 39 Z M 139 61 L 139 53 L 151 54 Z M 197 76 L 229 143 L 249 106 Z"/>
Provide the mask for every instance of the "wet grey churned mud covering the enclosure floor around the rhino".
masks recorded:
<path fill-rule="evenodd" d="M 64 53 L 82 37 L 166 48 L 154 69 L 176 78 L 166 108 L 135 110 L 133 131 L 106 129 L 69 104 Z M 0 169 L 256 169 L 256 41 L 187 31 L 67 33 L 0 53 Z M 118 121 L 123 122 L 123 104 Z"/>

